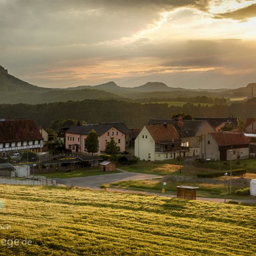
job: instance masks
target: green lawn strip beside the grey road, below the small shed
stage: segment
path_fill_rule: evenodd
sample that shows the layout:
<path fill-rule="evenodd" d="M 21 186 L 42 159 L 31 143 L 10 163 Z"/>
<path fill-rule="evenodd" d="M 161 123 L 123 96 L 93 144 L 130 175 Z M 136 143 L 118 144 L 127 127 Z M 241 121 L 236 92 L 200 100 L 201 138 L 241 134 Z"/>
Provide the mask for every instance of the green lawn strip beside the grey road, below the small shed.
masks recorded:
<path fill-rule="evenodd" d="M 68 179 L 68 178 L 77 178 L 77 177 L 85 177 L 85 176 L 92 176 L 92 175 L 101 175 L 107 173 L 117 173 L 119 171 L 111 171 L 111 172 L 102 172 L 100 169 L 97 168 L 85 168 L 70 172 L 49 172 L 49 173 L 42 173 L 42 176 L 45 176 L 48 179 Z"/>

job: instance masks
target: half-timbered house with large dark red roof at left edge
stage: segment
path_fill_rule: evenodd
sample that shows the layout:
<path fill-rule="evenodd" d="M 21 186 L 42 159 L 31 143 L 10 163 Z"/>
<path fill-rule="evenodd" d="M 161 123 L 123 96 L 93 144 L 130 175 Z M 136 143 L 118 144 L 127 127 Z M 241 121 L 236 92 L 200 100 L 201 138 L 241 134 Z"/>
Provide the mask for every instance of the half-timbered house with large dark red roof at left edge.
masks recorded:
<path fill-rule="evenodd" d="M 43 151 L 43 137 L 33 120 L 1 119 L 0 156 L 7 157 L 24 150 Z"/>

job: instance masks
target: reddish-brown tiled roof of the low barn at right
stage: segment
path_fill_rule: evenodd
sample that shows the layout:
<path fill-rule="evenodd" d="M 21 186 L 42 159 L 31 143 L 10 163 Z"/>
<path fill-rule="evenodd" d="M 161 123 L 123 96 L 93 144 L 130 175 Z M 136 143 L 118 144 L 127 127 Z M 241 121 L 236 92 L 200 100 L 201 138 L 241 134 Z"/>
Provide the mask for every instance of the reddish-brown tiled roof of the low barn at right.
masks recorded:
<path fill-rule="evenodd" d="M 249 145 L 248 139 L 242 132 L 211 132 L 210 134 L 219 146 Z"/>

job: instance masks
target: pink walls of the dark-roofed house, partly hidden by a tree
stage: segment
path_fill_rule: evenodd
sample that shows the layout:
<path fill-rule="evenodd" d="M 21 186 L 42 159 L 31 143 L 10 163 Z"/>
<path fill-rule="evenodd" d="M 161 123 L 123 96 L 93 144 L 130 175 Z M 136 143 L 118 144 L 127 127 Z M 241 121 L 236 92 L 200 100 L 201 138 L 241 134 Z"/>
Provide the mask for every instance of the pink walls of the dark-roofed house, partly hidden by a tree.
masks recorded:
<path fill-rule="evenodd" d="M 114 134 L 114 135 L 113 135 Z M 101 154 L 105 150 L 106 141 L 110 141 L 110 138 L 114 137 L 117 146 L 120 147 L 121 151 L 125 150 L 125 134 L 117 130 L 115 127 L 111 127 L 107 132 L 103 133 L 98 137 L 99 140 L 99 151 L 97 154 Z M 87 153 L 84 147 L 84 141 L 87 138 L 85 134 L 74 134 L 66 132 L 66 149 L 72 150 L 72 145 L 77 144 L 78 154 Z"/>

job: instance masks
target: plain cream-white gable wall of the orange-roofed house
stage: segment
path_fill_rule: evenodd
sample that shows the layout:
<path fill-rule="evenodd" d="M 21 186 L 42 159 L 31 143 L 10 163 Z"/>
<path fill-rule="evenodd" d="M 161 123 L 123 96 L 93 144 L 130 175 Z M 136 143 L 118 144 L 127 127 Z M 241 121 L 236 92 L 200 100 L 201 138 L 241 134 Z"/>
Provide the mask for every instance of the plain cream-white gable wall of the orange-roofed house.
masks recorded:
<path fill-rule="evenodd" d="M 138 137 L 135 139 L 134 154 L 141 160 L 155 161 L 155 141 L 146 126 L 143 127 Z"/>

